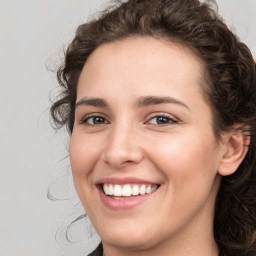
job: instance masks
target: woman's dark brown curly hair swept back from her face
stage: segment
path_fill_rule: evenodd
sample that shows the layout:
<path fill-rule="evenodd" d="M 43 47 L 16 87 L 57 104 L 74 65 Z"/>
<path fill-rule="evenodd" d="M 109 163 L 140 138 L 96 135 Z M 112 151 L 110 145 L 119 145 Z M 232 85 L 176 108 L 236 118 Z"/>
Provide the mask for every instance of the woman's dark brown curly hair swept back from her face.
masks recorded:
<path fill-rule="evenodd" d="M 56 128 L 72 133 L 76 86 L 83 65 L 100 44 L 149 35 L 182 44 L 205 63 L 205 101 L 213 112 L 217 139 L 241 124 L 248 152 L 216 197 L 214 237 L 223 256 L 256 255 L 256 66 L 248 47 L 217 14 L 214 0 L 114 1 L 97 18 L 81 24 L 57 71 L 60 96 L 50 113 Z"/>

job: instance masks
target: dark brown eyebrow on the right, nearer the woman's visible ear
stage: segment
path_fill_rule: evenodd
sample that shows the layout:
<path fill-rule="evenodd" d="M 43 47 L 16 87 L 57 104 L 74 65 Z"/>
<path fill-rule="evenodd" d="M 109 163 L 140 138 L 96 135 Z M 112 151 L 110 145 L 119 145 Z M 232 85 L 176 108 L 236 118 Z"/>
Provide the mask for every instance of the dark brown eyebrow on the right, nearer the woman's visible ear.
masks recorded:
<path fill-rule="evenodd" d="M 135 106 L 143 107 L 143 106 L 152 106 L 152 105 L 163 104 L 163 103 L 178 104 L 189 109 L 188 106 L 182 101 L 169 96 L 141 96 L 139 99 L 135 101 Z"/>

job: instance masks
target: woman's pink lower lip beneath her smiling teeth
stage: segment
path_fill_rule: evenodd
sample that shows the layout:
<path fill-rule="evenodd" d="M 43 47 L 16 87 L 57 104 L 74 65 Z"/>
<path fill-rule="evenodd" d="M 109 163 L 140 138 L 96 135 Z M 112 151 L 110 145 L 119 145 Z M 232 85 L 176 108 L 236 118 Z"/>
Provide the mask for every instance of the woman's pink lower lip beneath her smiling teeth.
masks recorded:
<path fill-rule="evenodd" d="M 125 198 L 125 199 L 114 199 L 108 195 L 105 195 L 105 193 L 102 191 L 101 186 L 98 188 L 99 191 L 99 197 L 101 201 L 104 203 L 106 207 L 108 207 L 111 210 L 128 210 L 132 209 L 146 200 L 148 200 L 156 190 L 149 194 L 144 194 L 144 195 L 137 195 L 131 198 Z"/>

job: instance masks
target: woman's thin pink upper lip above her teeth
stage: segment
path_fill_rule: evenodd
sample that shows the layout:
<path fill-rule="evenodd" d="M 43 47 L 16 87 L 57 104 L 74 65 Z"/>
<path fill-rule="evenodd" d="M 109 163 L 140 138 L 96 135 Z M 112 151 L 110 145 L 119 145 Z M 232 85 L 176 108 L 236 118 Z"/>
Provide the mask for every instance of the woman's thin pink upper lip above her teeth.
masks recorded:
<path fill-rule="evenodd" d="M 143 183 L 143 184 L 159 184 L 154 181 L 149 181 L 137 177 L 104 177 L 96 180 L 96 184 L 111 183 L 111 184 L 129 184 L 129 183 Z"/>

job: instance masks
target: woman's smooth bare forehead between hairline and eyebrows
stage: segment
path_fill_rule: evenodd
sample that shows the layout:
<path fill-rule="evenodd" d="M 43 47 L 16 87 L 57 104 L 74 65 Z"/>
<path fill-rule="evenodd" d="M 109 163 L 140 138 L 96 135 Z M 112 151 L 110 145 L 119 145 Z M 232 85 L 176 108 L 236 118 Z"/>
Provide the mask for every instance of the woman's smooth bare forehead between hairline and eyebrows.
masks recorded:
<path fill-rule="evenodd" d="M 77 99 L 123 90 L 140 94 L 200 90 L 201 59 L 190 49 L 153 37 L 105 43 L 88 57 L 79 77 Z M 92 95 L 94 96 L 94 95 Z"/>

